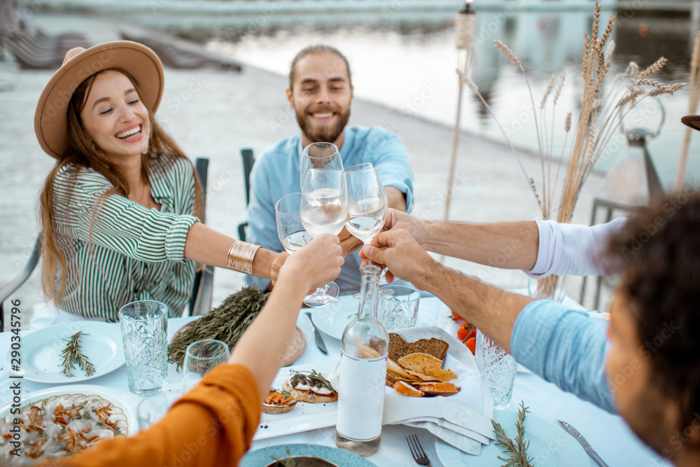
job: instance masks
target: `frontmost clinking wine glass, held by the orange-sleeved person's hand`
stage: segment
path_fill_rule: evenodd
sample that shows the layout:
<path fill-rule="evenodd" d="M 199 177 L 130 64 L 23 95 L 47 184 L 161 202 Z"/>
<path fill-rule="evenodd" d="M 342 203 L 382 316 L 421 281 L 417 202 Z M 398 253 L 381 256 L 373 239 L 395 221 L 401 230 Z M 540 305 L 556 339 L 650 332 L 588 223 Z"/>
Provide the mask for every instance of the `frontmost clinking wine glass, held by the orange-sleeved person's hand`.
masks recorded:
<path fill-rule="evenodd" d="M 326 232 L 338 235 L 348 218 L 345 172 L 309 169 L 302 188 L 300 217 L 311 237 L 315 238 Z M 332 286 L 335 286 L 335 289 Z M 337 294 L 337 286 L 329 282 L 317 288 L 313 294 L 307 295 L 304 303 L 309 307 L 321 307 L 339 302 Z"/>

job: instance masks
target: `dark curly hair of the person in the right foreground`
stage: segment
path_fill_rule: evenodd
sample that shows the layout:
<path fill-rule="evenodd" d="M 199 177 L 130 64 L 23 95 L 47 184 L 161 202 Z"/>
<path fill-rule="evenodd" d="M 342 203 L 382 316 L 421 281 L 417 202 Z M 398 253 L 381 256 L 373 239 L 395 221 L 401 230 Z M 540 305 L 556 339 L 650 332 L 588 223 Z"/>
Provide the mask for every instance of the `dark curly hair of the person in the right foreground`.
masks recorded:
<path fill-rule="evenodd" d="M 696 188 L 657 200 L 610 239 L 608 253 L 624 271 L 621 291 L 651 384 L 680 409 L 680 426 L 700 412 L 700 194 Z"/>

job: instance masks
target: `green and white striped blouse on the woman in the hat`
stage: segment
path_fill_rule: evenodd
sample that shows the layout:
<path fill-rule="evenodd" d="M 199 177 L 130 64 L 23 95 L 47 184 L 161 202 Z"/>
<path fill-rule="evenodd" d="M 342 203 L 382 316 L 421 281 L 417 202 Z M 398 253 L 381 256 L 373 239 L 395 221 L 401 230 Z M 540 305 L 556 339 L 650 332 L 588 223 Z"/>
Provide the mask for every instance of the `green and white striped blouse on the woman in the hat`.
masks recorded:
<path fill-rule="evenodd" d="M 160 211 L 120 195 L 107 196 L 97 207 L 113 187 L 104 176 L 74 165 L 58 172 L 53 197 L 56 243 L 68 265 L 59 309 L 119 321 L 119 309 L 126 303 L 158 300 L 167 305 L 169 316 L 183 312 L 195 275 L 195 263 L 184 258 L 187 232 L 197 221 L 191 216 L 193 168 L 182 158 L 155 156 L 148 180 Z"/>

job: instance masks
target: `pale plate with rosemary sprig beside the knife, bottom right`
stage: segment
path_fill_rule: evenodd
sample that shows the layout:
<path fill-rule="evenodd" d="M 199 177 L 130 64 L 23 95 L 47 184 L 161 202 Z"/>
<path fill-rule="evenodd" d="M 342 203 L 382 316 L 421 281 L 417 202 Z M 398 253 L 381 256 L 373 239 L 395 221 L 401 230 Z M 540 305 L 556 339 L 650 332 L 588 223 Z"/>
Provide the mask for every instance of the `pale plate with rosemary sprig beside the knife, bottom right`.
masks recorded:
<path fill-rule="evenodd" d="M 505 430 L 509 438 L 517 435 L 515 422 L 517 412 L 510 410 L 496 410 L 493 418 Z M 549 421 L 544 421 L 528 414 L 525 419 L 525 440 L 530 442 L 528 455 L 534 459 L 533 465 L 538 467 L 589 467 L 588 454 L 580 444 L 571 438 L 563 428 Z M 445 466 L 451 467 L 491 467 L 503 465 L 498 456 L 503 455 L 503 449 L 496 446 L 494 441 L 488 446 L 483 446 L 481 454 L 472 456 L 465 454 L 456 447 L 452 447 L 440 439 L 435 439 L 435 451 L 437 457 Z"/>

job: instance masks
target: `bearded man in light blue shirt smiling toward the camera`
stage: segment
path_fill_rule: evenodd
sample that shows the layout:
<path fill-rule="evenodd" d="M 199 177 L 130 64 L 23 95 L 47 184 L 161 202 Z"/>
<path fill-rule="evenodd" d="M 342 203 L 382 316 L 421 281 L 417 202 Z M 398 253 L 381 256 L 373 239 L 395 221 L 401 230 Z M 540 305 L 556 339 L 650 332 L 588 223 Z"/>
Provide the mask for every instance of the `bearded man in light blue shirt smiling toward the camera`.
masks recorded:
<path fill-rule="evenodd" d="M 290 193 L 301 191 L 300 163 L 303 148 L 315 142 L 338 147 L 344 167 L 370 162 L 381 179 L 389 207 L 410 211 L 413 205 L 413 172 L 401 140 L 381 127 L 347 127 L 353 99 L 350 69 L 345 57 L 328 46 L 310 46 L 292 62 L 287 89 L 301 134 L 283 139 L 253 165 L 251 197 L 246 216 L 246 240 L 272 251 L 283 251 L 277 236 L 274 205 Z M 346 229 L 340 232 L 345 265 L 335 280 L 340 293 L 359 291 L 361 260 L 353 253 L 362 242 Z M 246 283 L 266 290 L 270 281 L 248 276 Z"/>

